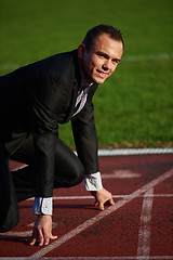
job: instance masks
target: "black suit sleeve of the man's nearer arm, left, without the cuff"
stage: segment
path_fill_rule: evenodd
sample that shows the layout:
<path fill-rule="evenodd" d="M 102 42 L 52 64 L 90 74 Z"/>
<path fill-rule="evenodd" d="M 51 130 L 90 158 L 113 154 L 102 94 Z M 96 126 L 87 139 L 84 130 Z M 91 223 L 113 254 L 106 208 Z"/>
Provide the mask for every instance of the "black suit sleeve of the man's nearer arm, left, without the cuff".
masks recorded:
<path fill-rule="evenodd" d="M 41 88 L 31 92 L 31 131 L 35 144 L 37 197 L 53 195 L 55 144 L 58 136 L 57 115 L 59 94 L 57 80 L 44 78 Z M 54 90 L 54 91 L 53 91 Z"/>

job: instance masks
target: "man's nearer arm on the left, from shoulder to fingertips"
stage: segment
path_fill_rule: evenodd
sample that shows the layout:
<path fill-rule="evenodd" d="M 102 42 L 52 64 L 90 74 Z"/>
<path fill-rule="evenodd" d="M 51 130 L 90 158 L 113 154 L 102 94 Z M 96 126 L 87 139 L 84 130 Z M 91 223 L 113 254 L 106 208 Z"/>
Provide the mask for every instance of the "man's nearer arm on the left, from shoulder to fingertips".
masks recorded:
<path fill-rule="evenodd" d="M 30 245 L 48 245 L 52 235 L 52 195 L 54 180 L 54 155 L 58 136 L 57 112 L 61 91 L 52 77 L 39 77 L 38 82 L 30 82 L 30 121 L 35 144 L 35 205 L 37 214 Z M 56 90 L 52 91 L 52 90 Z M 58 92 L 58 93 L 57 93 Z"/>

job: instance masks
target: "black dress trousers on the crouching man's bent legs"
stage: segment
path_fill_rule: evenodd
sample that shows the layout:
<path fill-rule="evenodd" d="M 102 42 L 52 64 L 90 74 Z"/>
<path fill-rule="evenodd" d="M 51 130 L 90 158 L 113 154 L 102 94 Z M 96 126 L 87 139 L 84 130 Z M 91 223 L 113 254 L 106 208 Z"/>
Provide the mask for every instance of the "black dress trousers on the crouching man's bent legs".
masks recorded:
<path fill-rule="evenodd" d="M 9 158 L 27 167 L 9 171 Z M 35 150 L 31 135 L 15 138 L 0 147 L 0 232 L 10 231 L 18 222 L 18 202 L 35 196 Z M 84 168 L 74 152 L 56 140 L 54 188 L 78 185 Z"/>

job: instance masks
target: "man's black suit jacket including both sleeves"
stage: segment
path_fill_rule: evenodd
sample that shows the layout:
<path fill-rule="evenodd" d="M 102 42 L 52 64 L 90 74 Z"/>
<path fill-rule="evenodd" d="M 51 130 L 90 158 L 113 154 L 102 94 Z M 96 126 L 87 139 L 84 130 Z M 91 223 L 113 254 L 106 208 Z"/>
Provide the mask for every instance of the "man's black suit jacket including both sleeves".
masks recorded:
<path fill-rule="evenodd" d="M 80 69 L 77 50 L 61 53 L 0 77 L 0 143 L 12 133 L 32 133 L 35 143 L 36 196 L 53 194 L 55 140 L 58 123 L 71 119 L 77 152 L 85 173 L 98 171 L 94 123 L 93 84 L 84 108 L 74 118 Z"/>

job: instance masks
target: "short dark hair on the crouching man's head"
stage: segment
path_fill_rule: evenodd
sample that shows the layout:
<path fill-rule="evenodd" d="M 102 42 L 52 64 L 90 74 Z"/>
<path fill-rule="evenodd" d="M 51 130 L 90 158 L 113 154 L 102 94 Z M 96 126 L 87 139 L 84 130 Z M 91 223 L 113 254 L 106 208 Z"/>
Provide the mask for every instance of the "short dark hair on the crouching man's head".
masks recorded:
<path fill-rule="evenodd" d="M 94 43 L 94 40 L 98 36 L 103 35 L 104 32 L 109 35 L 110 38 L 112 38 L 117 41 L 121 41 L 123 49 L 124 49 L 124 41 L 123 41 L 121 31 L 119 29 L 112 27 L 111 25 L 102 24 L 102 25 L 97 25 L 97 26 L 91 28 L 86 32 L 82 43 L 85 46 L 88 51 L 90 50 L 91 46 Z"/>

